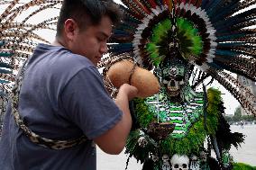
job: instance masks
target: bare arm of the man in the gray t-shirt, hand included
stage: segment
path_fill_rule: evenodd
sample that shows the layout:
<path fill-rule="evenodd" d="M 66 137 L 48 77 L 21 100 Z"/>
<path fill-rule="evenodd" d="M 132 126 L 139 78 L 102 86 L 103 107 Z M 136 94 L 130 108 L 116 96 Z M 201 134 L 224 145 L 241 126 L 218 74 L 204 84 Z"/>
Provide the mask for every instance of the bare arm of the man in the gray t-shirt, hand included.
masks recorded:
<path fill-rule="evenodd" d="M 120 87 L 115 103 L 123 112 L 123 117 L 112 129 L 94 139 L 97 146 L 107 154 L 120 154 L 125 147 L 126 139 L 132 127 L 132 118 L 129 110 L 129 100 L 132 100 L 138 90 L 132 85 L 124 84 Z"/>

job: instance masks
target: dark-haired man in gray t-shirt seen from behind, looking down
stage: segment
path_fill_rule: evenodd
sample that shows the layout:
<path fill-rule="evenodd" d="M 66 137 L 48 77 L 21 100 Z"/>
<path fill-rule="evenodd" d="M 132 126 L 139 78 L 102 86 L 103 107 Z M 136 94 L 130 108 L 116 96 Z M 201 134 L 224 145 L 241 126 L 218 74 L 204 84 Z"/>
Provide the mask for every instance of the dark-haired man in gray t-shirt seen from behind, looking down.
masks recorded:
<path fill-rule="evenodd" d="M 35 142 L 16 124 L 9 103 L 0 141 L 2 170 L 96 170 L 95 143 L 109 154 L 123 150 L 132 125 L 128 102 L 137 89 L 122 85 L 114 102 L 96 69 L 116 11 L 109 1 L 64 0 L 56 40 L 39 44 L 24 70 L 18 105 L 24 125 L 53 141 L 83 135 L 87 140 L 64 149 Z"/>

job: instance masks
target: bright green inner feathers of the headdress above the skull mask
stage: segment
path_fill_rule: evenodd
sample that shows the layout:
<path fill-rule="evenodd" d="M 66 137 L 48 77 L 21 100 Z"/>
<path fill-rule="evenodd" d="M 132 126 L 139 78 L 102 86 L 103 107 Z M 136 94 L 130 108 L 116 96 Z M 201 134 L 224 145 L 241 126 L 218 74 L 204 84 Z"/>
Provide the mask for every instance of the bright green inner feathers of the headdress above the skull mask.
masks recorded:
<path fill-rule="evenodd" d="M 159 22 L 152 29 L 151 42 L 147 44 L 146 50 L 150 54 L 154 66 L 158 66 L 166 55 L 167 43 L 169 43 L 169 31 L 172 24 L 169 19 Z M 183 58 L 189 58 L 191 55 L 199 57 L 203 50 L 202 38 L 198 35 L 197 28 L 194 28 L 192 22 L 185 18 L 177 19 L 177 38 L 180 45 L 180 52 Z"/>

